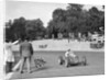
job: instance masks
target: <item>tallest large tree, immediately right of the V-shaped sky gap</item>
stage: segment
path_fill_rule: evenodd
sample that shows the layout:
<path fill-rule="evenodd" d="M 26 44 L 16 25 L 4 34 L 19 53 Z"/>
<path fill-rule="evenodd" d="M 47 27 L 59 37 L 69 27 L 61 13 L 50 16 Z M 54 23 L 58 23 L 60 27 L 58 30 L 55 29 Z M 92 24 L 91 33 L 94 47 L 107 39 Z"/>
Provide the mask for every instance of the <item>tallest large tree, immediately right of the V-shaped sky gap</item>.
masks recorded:
<path fill-rule="evenodd" d="M 67 10 L 56 9 L 53 12 L 53 20 L 48 23 L 51 34 L 76 32 L 78 20 L 80 20 L 81 4 L 69 4 Z M 57 36 L 56 36 L 57 37 Z"/>

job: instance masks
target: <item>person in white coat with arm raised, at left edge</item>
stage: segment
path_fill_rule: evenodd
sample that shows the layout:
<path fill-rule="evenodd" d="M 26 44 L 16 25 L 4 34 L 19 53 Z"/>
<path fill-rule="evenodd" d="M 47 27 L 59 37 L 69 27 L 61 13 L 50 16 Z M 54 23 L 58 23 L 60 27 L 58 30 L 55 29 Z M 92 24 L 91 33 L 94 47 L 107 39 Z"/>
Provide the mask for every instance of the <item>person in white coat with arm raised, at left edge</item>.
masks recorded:
<path fill-rule="evenodd" d="M 19 41 L 11 43 L 11 41 L 6 41 L 4 43 L 4 70 L 6 73 L 12 71 L 12 65 L 14 62 L 14 55 L 12 52 L 12 46 L 16 45 Z"/>

